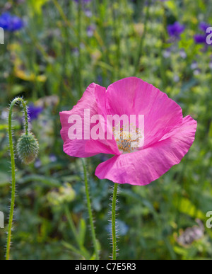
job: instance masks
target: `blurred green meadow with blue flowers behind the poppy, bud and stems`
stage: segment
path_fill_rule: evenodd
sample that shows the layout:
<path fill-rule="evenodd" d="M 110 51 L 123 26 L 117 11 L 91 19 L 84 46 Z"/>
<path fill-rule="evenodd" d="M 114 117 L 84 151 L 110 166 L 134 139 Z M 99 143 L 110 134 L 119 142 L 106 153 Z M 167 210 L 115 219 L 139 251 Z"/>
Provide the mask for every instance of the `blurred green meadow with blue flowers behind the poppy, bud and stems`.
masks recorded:
<path fill-rule="evenodd" d="M 40 143 L 34 164 L 16 160 L 12 259 L 95 258 L 83 167 L 66 156 L 59 111 L 71 110 L 86 87 L 128 76 L 153 84 L 197 120 L 196 139 L 182 162 L 147 186 L 121 185 L 119 259 L 211 259 L 212 26 L 211 0 L 0 1 L 0 211 L 11 198 L 8 104 L 23 96 Z M 14 143 L 23 113 L 13 115 Z M 87 159 L 100 258 L 108 238 L 113 183 L 94 176 L 105 155 Z M 73 220 L 73 223 L 72 223 Z M 8 220 L 5 221 L 7 227 Z M 71 226 L 76 227 L 73 235 Z M 6 228 L 0 229 L 4 259 Z"/>

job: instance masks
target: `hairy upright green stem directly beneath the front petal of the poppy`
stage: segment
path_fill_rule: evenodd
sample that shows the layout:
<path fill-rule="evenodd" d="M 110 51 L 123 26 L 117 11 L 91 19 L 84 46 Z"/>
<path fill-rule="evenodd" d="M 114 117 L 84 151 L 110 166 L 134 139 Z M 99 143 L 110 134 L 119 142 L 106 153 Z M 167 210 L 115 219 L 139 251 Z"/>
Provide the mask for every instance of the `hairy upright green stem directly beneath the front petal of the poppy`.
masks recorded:
<path fill-rule="evenodd" d="M 114 184 L 112 197 L 112 259 L 117 259 L 117 235 L 116 235 L 116 204 L 118 184 Z"/>

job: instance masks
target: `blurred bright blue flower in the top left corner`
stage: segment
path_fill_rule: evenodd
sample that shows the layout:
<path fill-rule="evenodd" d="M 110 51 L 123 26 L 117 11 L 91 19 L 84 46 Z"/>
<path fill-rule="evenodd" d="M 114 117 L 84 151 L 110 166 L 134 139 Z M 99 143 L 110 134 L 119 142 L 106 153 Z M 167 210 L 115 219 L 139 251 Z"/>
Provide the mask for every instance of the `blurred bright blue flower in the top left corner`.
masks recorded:
<path fill-rule="evenodd" d="M 23 28 L 23 20 L 18 16 L 12 16 L 11 13 L 2 13 L 0 16 L 0 27 L 8 31 L 17 31 Z"/>

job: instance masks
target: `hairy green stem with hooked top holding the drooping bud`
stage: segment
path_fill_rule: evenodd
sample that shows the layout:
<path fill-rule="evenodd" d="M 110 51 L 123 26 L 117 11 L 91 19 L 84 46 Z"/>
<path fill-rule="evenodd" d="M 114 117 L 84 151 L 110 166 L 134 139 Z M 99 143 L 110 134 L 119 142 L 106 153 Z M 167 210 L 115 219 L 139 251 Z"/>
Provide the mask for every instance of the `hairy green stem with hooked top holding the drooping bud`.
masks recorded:
<path fill-rule="evenodd" d="M 28 131 L 29 131 L 28 110 L 27 110 L 26 103 L 23 100 L 23 98 L 16 98 L 11 103 L 9 115 L 8 115 L 8 137 L 9 137 L 9 145 L 10 145 L 10 152 L 11 152 L 12 193 L 11 193 L 11 210 L 10 210 L 9 222 L 8 222 L 8 236 L 7 236 L 7 244 L 6 244 L 6 260 L 9 260 L 9 256 L 10 256 L 13 212 L 15 207 L 15 195 L 16 195 L 16 166 L 15 166 L 13 135 L 12 135 L 12 113 L 13 113 L 13 106 L 16 105 L 16 103 L 18 102 L 21 102 L 23 105 L 23 110 L 25 115 L 25 135 L 28 135 Z"/>

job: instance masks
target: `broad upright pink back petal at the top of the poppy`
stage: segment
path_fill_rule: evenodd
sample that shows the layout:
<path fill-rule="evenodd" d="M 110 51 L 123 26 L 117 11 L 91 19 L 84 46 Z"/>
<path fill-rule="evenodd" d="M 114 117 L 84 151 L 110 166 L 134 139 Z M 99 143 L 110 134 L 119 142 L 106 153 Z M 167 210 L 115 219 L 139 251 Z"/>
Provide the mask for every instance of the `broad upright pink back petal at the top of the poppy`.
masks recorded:
<path fill-rule="evenodd" d="M 144 115 L 144 147 L 160 140 L 182 123 L 182 109 L 151 84 L 136 78 L 110 85 L 106 93 L 107 114 Z"/>

